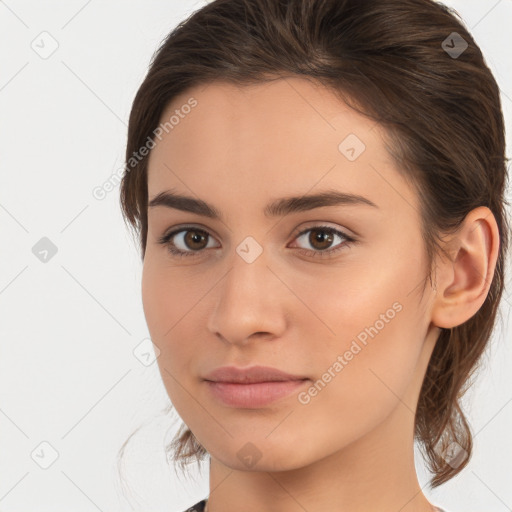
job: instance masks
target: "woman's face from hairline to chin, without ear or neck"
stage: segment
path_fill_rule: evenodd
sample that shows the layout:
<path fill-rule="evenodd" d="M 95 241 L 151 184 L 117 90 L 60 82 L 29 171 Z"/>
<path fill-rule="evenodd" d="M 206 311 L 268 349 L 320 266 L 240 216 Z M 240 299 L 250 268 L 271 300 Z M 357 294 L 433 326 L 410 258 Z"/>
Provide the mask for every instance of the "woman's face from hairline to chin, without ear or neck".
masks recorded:
<path fill-rule="evenodd" d="M 162 123 L 173 114 L 149 157 L 149 202 L 172 192 L 211 208 L 149 206 L 142 298 L 167 393 L 198 441 L 232 468 L 248 453 L 283 470 L 398 409 L 412 424 L 434 339 L 427 261 L 417 194 L 381 128 L 303 78 L 196 87 Z M 325 192 L 359 198 L 307 200 Z M 305 380 L 205 380 L 254 365 Z"/>

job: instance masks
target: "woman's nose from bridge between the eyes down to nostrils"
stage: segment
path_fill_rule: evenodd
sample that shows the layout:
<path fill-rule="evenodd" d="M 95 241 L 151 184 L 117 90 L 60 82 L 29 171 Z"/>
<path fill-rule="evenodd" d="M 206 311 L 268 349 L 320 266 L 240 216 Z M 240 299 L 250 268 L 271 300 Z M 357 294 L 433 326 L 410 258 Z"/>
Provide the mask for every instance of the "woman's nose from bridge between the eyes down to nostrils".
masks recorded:
<path fill-rule="evenodd" d="M 230 259 L 230 268 L 218 284 L 216 306 L 208 327 L 232 343 L 255 332 L 279 334 L 284 327 L 282 283 L 268 268 L 263 247 L 252 237 L 244 239 Z"/>

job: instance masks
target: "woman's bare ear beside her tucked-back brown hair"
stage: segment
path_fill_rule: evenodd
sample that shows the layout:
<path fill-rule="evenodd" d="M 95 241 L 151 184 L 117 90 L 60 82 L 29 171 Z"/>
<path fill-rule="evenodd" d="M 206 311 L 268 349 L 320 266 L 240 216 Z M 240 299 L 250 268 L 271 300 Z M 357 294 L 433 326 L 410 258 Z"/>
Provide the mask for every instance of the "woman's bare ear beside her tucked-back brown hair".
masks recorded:
<path fill-rule="evenodd" d="M 477 313 L 491 286 L 499 244 L 491 210 L 485 206 L 471 210 L 448 243 L 450 259 L 437 265 L 434 325 L 457 327 Z"/>

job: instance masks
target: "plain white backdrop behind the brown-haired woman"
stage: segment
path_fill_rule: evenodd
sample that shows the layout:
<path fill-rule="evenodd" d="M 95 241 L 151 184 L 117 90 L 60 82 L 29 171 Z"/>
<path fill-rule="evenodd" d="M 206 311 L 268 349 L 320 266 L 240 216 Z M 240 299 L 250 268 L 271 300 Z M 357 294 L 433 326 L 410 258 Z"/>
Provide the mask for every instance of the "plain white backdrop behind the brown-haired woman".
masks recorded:
<path fill-rule="evenodd" d="M 119 187 L 101 201 L 92 195 L 123 165 L 131 102 L 153 52 L 203 4 L 0 3 L 3 512 L 180 512 L 208 494 L 206 464 L 194 481 L 178 479 L 165 461 L 164 441 L 179 421 L 161 413 L 169 400 L 156 363 L 144 366 L 133 353 L 149 336 L 138 246 L 121 217 Z M 462 16 L 501 88 L 510 157 L 512 0 L 446 4 Z M 58 43 L 47 59 L 31 47 L 43 31 Z M 58 249 L 47 263 L 32 252 L 42 237 Z M 508 281 L 498 329 L 465 400 L 474 456 L 457 478 L 425 488 L 450 512 L 512 509 Z M 125 497 L 116 456 L 141 424 L 128 445 Z M 48 469 L 34 460 L 49 461 L 42 442 L 58 452 Z M 417 465 L 425 486 L 419 452 Z"/>

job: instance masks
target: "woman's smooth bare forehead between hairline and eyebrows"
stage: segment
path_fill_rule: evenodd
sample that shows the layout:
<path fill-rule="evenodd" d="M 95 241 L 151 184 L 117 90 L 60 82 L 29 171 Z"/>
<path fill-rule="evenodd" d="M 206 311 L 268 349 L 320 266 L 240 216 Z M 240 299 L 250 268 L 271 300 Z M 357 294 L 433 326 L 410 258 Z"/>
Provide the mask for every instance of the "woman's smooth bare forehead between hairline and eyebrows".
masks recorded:
<path fill-rule="evenodd" d="M 266 204 L 317 187 L 364 192 L 382 204 L 388 181 L 390 205 L 397 194 L 414 201 L 393 168 L 382 129 L 310 80 L 203 84 L 174 98 L 161 126 L 171 117 L 172 127 L 150 153 L 150 198 L 175 188 L 216 194 L 226 205 L 233 194 L 238 203 Z"/>

